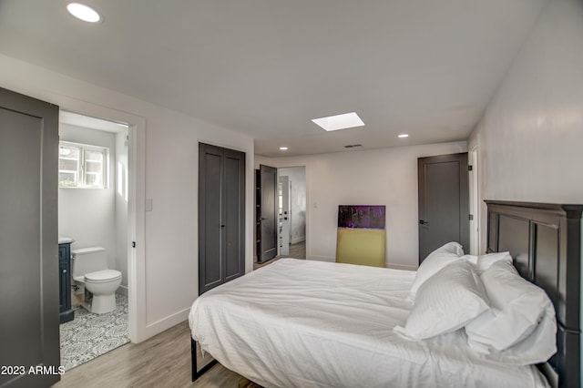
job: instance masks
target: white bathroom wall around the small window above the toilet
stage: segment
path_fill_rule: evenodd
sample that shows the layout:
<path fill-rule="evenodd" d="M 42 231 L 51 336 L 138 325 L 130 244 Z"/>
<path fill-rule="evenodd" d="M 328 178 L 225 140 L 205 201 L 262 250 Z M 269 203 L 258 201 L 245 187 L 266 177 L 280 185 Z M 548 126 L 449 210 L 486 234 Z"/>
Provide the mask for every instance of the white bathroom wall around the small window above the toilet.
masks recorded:
<path fill-rule="evenodd" d="M 58 234 L 75 242 L 71 249 L 103 247 L 107 250 L 107 268 L 116 268 L 115 135 L 110 132 L 59 124 L 62 141 L 109 149 L 107 189 L 58 189 Z M 127 272 L 127 267 L 126 271 Z"/>

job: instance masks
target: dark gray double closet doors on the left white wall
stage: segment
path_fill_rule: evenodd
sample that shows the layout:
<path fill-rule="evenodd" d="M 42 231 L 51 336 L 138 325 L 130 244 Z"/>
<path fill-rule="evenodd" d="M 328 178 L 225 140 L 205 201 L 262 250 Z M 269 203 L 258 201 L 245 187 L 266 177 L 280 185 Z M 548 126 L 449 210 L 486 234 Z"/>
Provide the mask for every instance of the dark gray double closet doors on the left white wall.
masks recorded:
<path fill-rule="evenodd" d="M 199 294 L 245 273 L 245 154 L 199 143 Z"/>

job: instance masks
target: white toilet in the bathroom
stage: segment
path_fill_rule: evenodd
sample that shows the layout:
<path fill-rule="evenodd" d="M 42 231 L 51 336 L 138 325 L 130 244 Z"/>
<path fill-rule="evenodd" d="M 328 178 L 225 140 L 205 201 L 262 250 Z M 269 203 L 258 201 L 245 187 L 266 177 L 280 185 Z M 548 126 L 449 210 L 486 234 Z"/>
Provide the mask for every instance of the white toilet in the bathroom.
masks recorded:
<path fill-rule="evenodd" d="M 73 281 L 93 295 L 83 303 L 88 311 L 103 314 L 116 310 L 116 290 L 121 284 L 121 272 L 107 270 L 105 248 L 93 247 L 71 250 Z"/>

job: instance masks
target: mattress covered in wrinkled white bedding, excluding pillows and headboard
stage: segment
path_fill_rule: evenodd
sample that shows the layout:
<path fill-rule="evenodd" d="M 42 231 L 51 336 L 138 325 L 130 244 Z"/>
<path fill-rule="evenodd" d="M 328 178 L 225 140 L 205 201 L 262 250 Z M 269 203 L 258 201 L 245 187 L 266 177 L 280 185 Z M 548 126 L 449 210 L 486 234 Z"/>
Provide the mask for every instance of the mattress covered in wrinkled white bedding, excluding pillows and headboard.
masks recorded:
<path fill-rule="evenodd" d="M 282 259 L 201 295 L 192 338 L 265 387 L 538 387 L 529 366 L 470 350 L 458 331 L 422 342 L 395 332 L 414 271 Z"/>

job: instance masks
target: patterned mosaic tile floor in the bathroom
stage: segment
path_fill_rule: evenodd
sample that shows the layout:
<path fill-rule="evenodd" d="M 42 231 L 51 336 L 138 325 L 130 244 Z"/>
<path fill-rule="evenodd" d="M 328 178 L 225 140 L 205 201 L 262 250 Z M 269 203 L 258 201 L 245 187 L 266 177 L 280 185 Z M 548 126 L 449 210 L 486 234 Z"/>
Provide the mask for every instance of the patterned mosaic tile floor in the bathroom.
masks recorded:
<path fill-rule="evenodd" d="M 66 371 L 129 342 L 128 298 L 116 294 L 116 306 L 106 314 L 78 307 L 75 319 L 60 325 L 61 365 Z"/>

